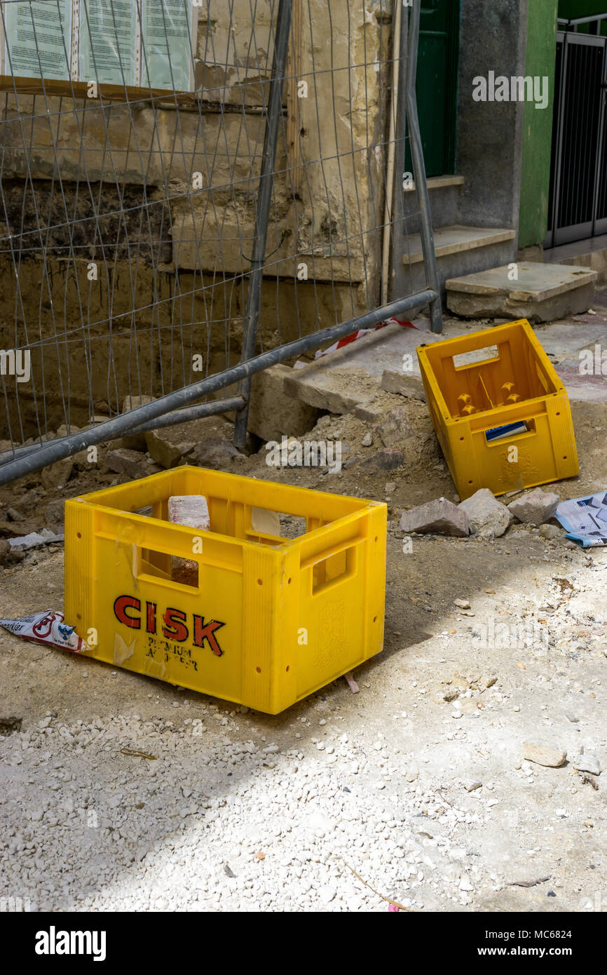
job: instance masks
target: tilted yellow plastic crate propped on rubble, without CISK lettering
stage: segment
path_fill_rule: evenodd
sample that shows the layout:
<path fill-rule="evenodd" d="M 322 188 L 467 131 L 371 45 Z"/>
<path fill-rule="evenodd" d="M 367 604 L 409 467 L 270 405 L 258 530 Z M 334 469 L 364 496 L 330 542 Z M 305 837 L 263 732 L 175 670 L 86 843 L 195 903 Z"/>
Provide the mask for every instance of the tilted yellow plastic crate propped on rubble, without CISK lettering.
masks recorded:
<path fill-rule="evenodd" d="M 480 487 L 505 494 L 579 473 L 567 391 L 526 319 L 421 345 L 417 355 L 462 500 Z"/>

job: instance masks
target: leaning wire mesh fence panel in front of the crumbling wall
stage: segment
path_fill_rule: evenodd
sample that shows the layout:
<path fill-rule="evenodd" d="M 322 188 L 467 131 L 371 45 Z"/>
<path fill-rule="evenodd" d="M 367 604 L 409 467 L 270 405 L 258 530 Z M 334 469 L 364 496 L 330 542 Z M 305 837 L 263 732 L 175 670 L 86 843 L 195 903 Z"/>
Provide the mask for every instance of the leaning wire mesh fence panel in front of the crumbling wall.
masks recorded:
<path fill-rule="evenodd" d="M 434 257 L 423 163 L 403 203 L 404 4 L 0 14 L 0 482 L 236 380 L 246 432 L 251 372 L 437 305 L 401 262 L 415 233 Z"/>

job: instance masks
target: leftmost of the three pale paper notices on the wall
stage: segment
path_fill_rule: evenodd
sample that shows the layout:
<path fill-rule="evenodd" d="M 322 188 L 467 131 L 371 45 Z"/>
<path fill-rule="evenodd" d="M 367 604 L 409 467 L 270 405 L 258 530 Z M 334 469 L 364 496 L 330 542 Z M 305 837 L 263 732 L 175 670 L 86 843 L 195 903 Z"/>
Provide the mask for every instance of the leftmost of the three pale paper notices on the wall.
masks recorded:
<path fill-rule="evenodd" d="M 22 78 L 69 78 L 72 0 L 4 3 L 4 73 Z"/>

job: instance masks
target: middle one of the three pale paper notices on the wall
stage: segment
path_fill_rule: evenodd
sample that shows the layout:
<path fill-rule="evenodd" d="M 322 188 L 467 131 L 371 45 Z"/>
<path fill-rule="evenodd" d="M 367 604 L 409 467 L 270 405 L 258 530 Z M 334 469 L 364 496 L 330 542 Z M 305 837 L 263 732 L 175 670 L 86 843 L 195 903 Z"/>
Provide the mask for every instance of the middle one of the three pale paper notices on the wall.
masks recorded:
<path fill-rule="evenodd" d="M 80 0 L 80 80 L 136 85 L 134 0 Z"/>

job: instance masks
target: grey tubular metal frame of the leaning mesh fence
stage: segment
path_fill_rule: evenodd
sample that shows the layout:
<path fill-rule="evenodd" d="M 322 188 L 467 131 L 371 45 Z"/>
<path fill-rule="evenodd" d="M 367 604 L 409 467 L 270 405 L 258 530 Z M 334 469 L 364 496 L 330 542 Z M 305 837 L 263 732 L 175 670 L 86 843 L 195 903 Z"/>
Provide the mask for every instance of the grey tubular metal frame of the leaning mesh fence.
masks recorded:
<path fill-rule="evenodd" d="M 398 2 L 402 2 L 402 0 L 395 0 L 395 3 Z M 398 225 L 402 225 L 403 220 L 401 216 L 401 180 L 402 173 L 404 172 L 404 129 L 406 125 L 408 126 L 411 143 L 411 158 L 420 215 L 427 287 L 421 292 L 399 297 L 388 304 L 374 308 L 339 325 L 312 332 L 280 345 L 277 348 L 262 352 L 256 356 L 253 355 L 260 313 L 261 281 L 263 278 L 263 262 L 273 187 L 277 137 L 282 114 L 285 62 L 292 4 L 293 0 L 280 0 L 279 4 L 262 168 L 257 193 L 253 253 L 248 275 L 247 307 L 244 316 L 241 362 L 238 366 L 207 376 L 199 382 L 184 386 L 179 390 L 159 397 L 151 403 L 136 407 L 129 412 L 122 413 L 119 416 L 99 423 L 90 429 L 57 438 L 57 440 L 50 441 L 42 446 L 40 444 L 34 444 L 28 447 L 17 448 L 11 451 L 10 459 L 6 459 L 4 463 L 2 463 L 3 457 L 0 456 L 0 485 L 8 484 L 18 478 L 33 474 L 64 457 L 69 457 L 72 454 L 104 441 L 113 440 L 128 434 L 141 433 L 145 430 L 171 426 L 203 416 L 228 412 L 230 410 L 236 410 L 237 414 L 234 434 L 235 445 L 238 448 L 243 448 L 247 437 L 250 384 L 251 378 L 255 373 L 286 362 L 311 349 L 316 349 L 325 342 L 333 342 L 353 331 L 373 327 L 386 319 L 397 317 L 403 312 L 408 313 L 427 305 L 430 305 L 432 331 L 437 333 L 442 331 L 442 311 L 430 213 L 430 198 L 415 94 L 420 24 L 420 4 L 415 3 L 411 8 L 403 6 L 400 20 L 400 37 L 398 39 L 398 52 L 402 63 L 398 75 L 397 127 L 398 133 L 400 134 L 400 138 L 398 139 L 400 153 L 395 165 L 397 187 L 397 192 L 395 193 L 397 203 L 395 213 L 399 215 L 396 224 L 398 227 Z M 395 45 L 396 50 L 397 47 Z M 398 187 L 400 187 L 400 192 L 398 191 Z M 387 187 L 387 191 L 389 189 L 390 187 Z M 398 259 L 397 244 L 398 233 L 395 233 L 393 263 L 394 260 Z M 225 389 L 232 383 L 238 383 L 238 394 L 236 396 L 192 406 L 192 404 L 196 404 L 196 401 L 218 390 Z M 6 457 L 6 454 L 4 456 Z"/>

